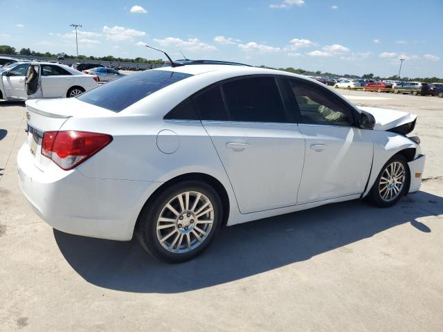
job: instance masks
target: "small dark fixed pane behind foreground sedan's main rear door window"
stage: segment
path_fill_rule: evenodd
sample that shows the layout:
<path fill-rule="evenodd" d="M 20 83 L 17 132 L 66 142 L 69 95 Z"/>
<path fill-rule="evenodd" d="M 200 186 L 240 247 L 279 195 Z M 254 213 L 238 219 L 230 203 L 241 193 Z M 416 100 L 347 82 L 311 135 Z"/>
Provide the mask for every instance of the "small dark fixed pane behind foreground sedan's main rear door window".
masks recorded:
<path fill-rule="evenodd" d="M 201 120 L 228 120 L 223 98 L 221 97 L 220 86 L 217 85 L 205 90 L 195 95 L 192 100 Z"/>

